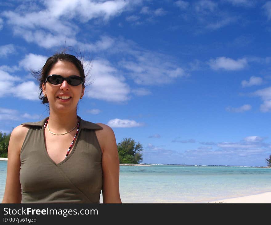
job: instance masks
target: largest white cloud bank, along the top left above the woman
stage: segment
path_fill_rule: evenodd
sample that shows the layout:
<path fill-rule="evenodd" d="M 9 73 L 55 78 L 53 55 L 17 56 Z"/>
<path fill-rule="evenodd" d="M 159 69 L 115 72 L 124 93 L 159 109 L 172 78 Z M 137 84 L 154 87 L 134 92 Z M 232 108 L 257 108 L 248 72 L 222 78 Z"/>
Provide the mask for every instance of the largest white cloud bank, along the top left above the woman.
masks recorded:
<path fill-rule="evenodd" d="M 2 16 L 13 30 L 14 35 L 21 36 L 27 42 L 34 42 L 39 46 L 51 48 L 67 45 L 75 46 L 76 34 L 80 27 L 77 23 L 69 22 L 75 18 L 81 22 L 101 18 L 103 21 L 121 14 L 124 10 L 141 1 L 94 1 L 94 0 L 48 0 L 43 1 L 42 10 L 29 12 L 27 9 L 3 11 Z M 21 5 L 22 6 L 22 5 Z M 1 25 L 1 21 L 0 21 Z"/>

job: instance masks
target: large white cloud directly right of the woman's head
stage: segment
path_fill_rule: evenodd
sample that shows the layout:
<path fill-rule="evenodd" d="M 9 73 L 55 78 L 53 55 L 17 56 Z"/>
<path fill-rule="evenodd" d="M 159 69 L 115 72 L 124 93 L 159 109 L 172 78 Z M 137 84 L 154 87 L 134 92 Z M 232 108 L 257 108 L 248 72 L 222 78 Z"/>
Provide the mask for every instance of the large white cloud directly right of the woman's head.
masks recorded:
<path fill-rule="evenodd" d="M 86 87 L 88 97 L 123 102 L 130 99 L 129 86 L 124 83 L 124 78 L 118 76 L 118 71 L 103 59 L 93 60 L 91 77 L 94 81 Z"/>

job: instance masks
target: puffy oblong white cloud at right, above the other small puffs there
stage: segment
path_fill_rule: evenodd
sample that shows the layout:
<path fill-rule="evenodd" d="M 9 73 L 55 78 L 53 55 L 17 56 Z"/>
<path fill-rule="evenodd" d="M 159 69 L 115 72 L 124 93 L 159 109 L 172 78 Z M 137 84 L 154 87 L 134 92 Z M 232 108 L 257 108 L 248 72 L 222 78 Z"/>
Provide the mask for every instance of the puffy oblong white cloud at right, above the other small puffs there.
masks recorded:
<path fill-rule="evenodd" d="M 247 66 L 247 59 L 234 60 L 223 56 L 216 59 L 210 59 L 208 64 L 213 70 L 241 70 Z"/>

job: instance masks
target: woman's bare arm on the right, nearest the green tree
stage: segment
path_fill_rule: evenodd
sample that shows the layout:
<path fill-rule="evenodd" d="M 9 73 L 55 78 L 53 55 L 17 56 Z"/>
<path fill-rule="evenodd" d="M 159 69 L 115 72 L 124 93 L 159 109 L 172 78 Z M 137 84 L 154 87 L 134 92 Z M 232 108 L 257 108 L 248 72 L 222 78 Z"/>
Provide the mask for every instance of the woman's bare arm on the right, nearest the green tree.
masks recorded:
<path fill-rule="evenodd" d="M 96 135 L 102 150 L 103 203 L 121 203 L 119 196 L 119 154 L 113 130 L 99 124 L 103 130 Z"/>

